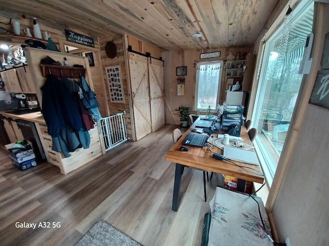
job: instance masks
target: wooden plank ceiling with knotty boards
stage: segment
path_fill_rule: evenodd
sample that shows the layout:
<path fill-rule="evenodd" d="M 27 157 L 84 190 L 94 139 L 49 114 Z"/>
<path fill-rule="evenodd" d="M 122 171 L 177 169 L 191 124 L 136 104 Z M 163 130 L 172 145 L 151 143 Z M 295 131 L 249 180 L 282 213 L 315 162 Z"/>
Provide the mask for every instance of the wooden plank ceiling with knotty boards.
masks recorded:
<path fill-rule="evenodd" d="M 90 36 L 126 33 L 162 50 L 252 46 L 278 0 L 1 0 L 22 15 Z M 200 33 L 202 37 L 192 37 Z"/>

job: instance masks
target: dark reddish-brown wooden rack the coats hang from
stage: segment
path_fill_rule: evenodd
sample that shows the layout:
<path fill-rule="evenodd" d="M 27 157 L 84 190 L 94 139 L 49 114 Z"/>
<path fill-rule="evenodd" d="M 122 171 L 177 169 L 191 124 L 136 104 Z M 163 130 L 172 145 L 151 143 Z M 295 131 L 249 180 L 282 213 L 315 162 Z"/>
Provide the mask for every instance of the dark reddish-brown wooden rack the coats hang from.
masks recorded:
<path fill-rule="evenodd" d="M 52 74 L 58 78 L 63 76 L 67 78 L 76 78 L 85 76 L 86 73 L 85 68 L 56 66 L 47 64 L 40 64 L 40 69 L 43 77 L 47 77 L 49 74 Z"/>

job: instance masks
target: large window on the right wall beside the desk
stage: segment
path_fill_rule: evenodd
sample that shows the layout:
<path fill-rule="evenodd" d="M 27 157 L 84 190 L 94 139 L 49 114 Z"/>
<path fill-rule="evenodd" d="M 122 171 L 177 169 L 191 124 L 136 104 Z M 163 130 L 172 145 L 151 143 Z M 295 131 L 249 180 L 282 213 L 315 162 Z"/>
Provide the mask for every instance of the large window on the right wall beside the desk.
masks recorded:
<path fill-rule="evenodd" d="M 306 36 L 312 32 L 313 1 L 303 1 L 286 16 L 266 42 L 257 96 L 252 114 L 258 129 L 254 145 L 271 183 L 289 128 L 303 75 L 299 74 Z"/>

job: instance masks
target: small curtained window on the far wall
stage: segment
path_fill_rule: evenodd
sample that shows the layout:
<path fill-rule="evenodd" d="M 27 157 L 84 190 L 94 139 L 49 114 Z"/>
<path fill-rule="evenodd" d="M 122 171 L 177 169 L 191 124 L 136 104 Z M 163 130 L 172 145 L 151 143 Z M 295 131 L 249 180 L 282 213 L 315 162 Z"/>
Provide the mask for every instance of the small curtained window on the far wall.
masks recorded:
<path fill-rule="evenodd" d="M 198 63 L 196 68 L 196 110 L 216 109 L 220 98 L 223 61 Z"/>

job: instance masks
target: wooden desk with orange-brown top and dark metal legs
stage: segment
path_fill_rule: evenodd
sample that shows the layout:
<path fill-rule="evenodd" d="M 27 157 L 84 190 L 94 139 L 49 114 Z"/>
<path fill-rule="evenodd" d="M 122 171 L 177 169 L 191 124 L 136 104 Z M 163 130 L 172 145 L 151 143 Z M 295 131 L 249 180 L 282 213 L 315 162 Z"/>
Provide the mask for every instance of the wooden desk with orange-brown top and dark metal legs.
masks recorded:
<path fill-rule="evenodd" d="M 211 171 L 214 173 L 221 173 L 257 183 L 264 182 L 264 177 L 260 173 L 255 172 L 248 168 L 237 167 L 228 161 L 216 160 L 212 157 L 213 153 L 211 152 L 206 153 L 203 150 L 203 148 L 188 146 L 190 149 L 189 151 L 180 151 L 179 148 L 182 146 L 182 142 L 184 141 L 185 137 L 191 132 L 191 130 L 195 128 L 194 127 L 195 123 L 199 119 L 200 118 L 198 118 L 194 122 L 194 124 L 189 128 L 189 130 L 178 139 L 176 144 L 166 154 L 166 160 L 176 162 L 173 203 L 172 203 L 172 210 L 175 212 L 177 212 L 178 210 L 181 172 L 184 167 L 193 167 L 205 171 Z M 224 132 L 219 132 L 219 133 L 221 134 Z M 240 137 L 244 139 L 244 142 L 246 144 L 251 144 L 247 129 L 244 126 L 242 126 Z M 223 154 L 223 150 L 219 148 L 215 148 L 214 150 L 216 149 L 217 149 L 216 153 Z M 234 161 L 234 162 L 237 165 L 250 167 L 255 170 L 258 170 L 259 172 L 262 172 L 260 166 L 249 165 L 239 161 Z"/>

